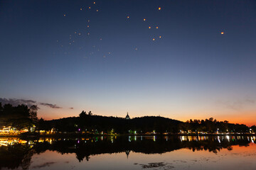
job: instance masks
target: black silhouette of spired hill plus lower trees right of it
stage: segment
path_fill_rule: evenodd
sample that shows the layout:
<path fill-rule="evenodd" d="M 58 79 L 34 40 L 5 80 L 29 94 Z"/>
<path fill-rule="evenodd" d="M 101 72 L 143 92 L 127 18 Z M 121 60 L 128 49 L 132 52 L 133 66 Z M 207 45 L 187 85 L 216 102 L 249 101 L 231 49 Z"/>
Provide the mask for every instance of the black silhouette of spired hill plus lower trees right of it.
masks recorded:
<path fill-rule="evenodd" d="M 255 126 L 233 124 L 225 121 L 217 121 L 213 118 L 206 120 L 188 120 L 185 123 L 163 118 L 160 116 L 144 116 L 141 118 L 124 119 L 119 117 L 108 117 L 102 115 L 93 115 L 90 111 L 82 111 L 79 117 L 60 118 L 58 120 L 39 120 L 38 129 L 50 130 L 55 128 L 58 132 L 90 132 L 94 134 L 118 133 L 146 133 L 156 132 L 158 134 L 169 132 L 255 132 Z M 250 130 L 251 129 L 251 130 Z"/>

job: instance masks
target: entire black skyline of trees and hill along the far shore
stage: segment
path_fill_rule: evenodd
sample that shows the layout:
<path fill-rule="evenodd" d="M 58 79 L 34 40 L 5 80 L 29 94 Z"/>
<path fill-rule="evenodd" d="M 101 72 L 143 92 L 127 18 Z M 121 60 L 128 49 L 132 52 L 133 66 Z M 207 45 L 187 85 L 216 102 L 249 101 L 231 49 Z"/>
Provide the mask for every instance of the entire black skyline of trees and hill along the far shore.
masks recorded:
<path fill-rule="evenodd" d="M 58 132 L 90 132 L 93 134 L 127 134 L 127 133 L 146 133 L 164 132 L 178 133 L 185 132 L 256 132 L 255 125 L 233 124 L 225 121 L 218 121 L 213 118 L 206 120 L 188 120 L 185 123 L 163 118 L 160 116 L 144 116 L 142 118 L 124 119 L 119 117 L 108 117 L 93 115 L 91 111 L 82 111 L 78 117 L 60 118 L 58 120 L 43 120 L 37 118 L 37 106 L 18 105 L 11 106 L 0 103 L 0 126 L 11 125 L 14 128 L 22 129 L 36 125 L 37 130 L 52 130 Z"/>

